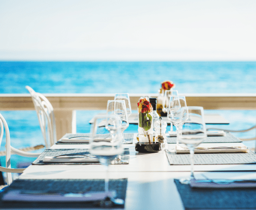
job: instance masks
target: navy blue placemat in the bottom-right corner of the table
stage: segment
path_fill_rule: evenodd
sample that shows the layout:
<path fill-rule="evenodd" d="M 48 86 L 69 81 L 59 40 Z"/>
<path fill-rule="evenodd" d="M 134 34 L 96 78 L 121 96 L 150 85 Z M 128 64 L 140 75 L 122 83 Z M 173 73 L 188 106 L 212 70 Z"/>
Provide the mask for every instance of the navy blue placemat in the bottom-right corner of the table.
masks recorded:
<path fill-rule="evenodd" d="M 174 180 L 185 209 L 255 209 L 255 189 L 194 189 Z"/>

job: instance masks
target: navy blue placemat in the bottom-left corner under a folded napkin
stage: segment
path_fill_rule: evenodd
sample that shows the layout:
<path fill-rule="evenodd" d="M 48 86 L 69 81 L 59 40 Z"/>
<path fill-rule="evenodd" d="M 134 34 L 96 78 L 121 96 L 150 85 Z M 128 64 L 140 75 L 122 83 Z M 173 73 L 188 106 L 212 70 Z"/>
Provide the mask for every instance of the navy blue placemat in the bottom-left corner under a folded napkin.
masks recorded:
<path fill-rule="evenodd" d="M 97 207 L 95 202 L 18 202 L 18 201 L 3 201 L 2 197 L 10 190 L 37 190 L 37 191 L 49 191 L 51 193 L 81 193 L 83 191 L 104 191 L 104 180 L 22 180 L 17 179 L 3 192 L 0 193 L 0 209 L 3 208 L 40 208 L 40 209 L 57 209 L 57 208 L 91 208 Z M 127 179 L 109 180 L 109 190 L 116 190 L 116 198 L 123 199 L 125 201 L 127 188 Z M 111 206 L 121 207 L 124 205 Z"/>

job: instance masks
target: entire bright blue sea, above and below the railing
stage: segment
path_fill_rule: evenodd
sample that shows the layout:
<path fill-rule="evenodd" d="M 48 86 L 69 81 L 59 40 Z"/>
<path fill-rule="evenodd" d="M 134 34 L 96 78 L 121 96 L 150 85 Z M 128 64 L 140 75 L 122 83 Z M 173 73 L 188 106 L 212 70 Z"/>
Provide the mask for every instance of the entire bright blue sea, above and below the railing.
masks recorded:
<path fill-rule="evenodd" d="M 179 93 L 256 93 L 256 62 L 0 62 L 0 93 L 28 93 L 26 85 L 40 93 L 158 93 L 161 82 L 171 80 Z M 105 110 L 77 111 L 77 133 L 90 132 L 89 120 Z M 35 111 L 0 111 L 10 129 L 11 145 L 24 148 L 43 144 Z M 256 124 L 255 110 L 205 110 L 230 121 L 229 125 L 207 125 L 242 130 Z M 169 128 L 167 128 L 169 129 Z M 136 132 L 130 125 L 125 132 Z M 234 133 L 255 137 L 255 129 Z M 255 141 L 245 142 L 255 147 Z M 5 139 L 0 151 L 5 150 Z M 12 155 L 12 167 L 33 158 Z M 5 157 L 0 161 L 5 165 Z"/>

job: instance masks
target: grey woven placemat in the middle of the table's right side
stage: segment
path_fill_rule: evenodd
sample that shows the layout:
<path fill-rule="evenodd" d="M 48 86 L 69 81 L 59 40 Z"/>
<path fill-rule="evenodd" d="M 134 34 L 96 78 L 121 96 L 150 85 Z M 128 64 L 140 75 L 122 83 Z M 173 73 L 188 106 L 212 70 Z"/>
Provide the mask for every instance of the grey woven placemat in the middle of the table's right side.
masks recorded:
<path fill-rule="evenodd" d="M 170 165 L 190 165 L 190 154 L 176 154 L 165 150 Z M 243 153 L 196 153 L 195 165 L 256 164 L 256 154 L 251 150 Z"/>

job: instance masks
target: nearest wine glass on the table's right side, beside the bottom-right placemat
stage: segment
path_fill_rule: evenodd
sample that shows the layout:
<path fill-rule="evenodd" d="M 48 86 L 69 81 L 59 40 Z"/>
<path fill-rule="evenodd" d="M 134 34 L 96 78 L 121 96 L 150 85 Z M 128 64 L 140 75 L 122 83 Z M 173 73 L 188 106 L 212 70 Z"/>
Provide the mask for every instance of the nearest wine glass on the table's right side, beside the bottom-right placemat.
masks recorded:
<path fill-rule="evenodd" d="M 200 143 L 202 143 L 206 139 L 207 134 L 202 107 L 183 107 L 181 109 L 186 109 L 185 113 L 188 115 L 189 120 L 184 123 L 182 131 L 179 132 L 179 139 L 183 144 L 188 147 L 190 151 L 191 174 L 189 178 L 181 179 L 180 182 L 183 184 L 189 184 L 191 179 L 195 179 L 194 150 Z"/>

